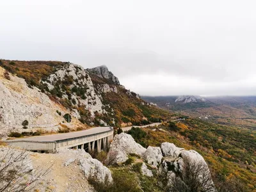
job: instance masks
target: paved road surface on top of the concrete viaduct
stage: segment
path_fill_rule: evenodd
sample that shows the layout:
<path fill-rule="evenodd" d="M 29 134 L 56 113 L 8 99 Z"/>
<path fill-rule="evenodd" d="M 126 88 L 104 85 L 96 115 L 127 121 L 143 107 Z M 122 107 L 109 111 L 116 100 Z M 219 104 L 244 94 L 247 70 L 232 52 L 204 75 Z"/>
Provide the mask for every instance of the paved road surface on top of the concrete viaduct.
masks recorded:
<path fill-rule="evenodd" d="M 45 135 L 45 136 L 34 136 L 31 138 L 20 138 L 15 141 L 60 141 L 60 140 L 67 140 L 71 138 L 78 138 L 81 136 L 88 136 L 88 135 L 111 131 L 111 130 L 113 130 L 111 127 L 95 127 L 95 128 L 87 129 L 84 131 L 51 134 L 51 135 Z M 9 141 L 12 141 L 12 140 L 9 140 Z"/>

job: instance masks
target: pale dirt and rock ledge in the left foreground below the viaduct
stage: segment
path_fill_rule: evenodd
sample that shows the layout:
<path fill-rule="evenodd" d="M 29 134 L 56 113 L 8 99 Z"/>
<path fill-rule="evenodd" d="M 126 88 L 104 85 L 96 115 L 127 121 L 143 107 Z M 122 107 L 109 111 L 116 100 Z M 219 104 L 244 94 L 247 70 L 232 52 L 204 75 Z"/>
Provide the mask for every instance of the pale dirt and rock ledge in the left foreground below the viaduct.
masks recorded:
<path fill-rule="evenodd" d="M 88 183 L 91 178 L 99 183 L 113 182 L 110 170 L 84 150 L 67 149 L 56 154 L 39 154 L 0 146 L 0 160 L 8 162 L 9 170 L 19 168 L 22 180 L 16 179 L 11 186 L 15 182 L 26 183 L 27 191 L 88 192 L 94 191 Z M 6 163 L 0 164 L 1 170 L 4 166 Z M 4 177 L 8 176 L 8 170 L 1 173 Z M 6 186 L 4 179 L 0 180 L 0 184 Z"/>

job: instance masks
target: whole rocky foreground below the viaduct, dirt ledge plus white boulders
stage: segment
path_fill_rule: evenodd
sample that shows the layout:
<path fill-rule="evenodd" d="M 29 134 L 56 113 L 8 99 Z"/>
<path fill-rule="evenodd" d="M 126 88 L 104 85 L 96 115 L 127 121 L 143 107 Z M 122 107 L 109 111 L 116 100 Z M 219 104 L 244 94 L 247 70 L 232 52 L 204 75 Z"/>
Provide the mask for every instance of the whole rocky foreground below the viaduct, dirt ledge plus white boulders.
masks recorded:
<path fill-rule="evenodd" d="M 136 161 L 129 165 L 127 159 L 131 156 L 136 157 Z M 9 159 L 11 160 L 9 161 Z M 207 188 L 208 192 L 215 191 L 209 168 L 204 158 L 195 150 L 184 150 L 184 148 L 176 147 L 173 143 L 162 143 L 161 147 L 146 149 L 136 143 L 131 135 L 125 133 L 117 134 L 110 145 L 106 161 L 109 166 L 104 166 L 100 161 L 93 159 L 90 154 L 80 149 L 62 149 L 58 150 L 56 154 L 39 154 L 23 153 L 22 150 L 0 145 L 0 160 L 10 163 L 8 169 L 19 168 L 22 183 L 26 183 L 28 189 L 35 187 L 36 191 L 94 191 L 93 188 L 98 189 L 99 185 L 104 186 L 104 191 L 112 191 L 111 188 L 122 188 L 120 186 L 122 184 L 116 180 L 115 170 L 122 172 L 127 168 L 128 175 L 134 173 L 137 175 L 135 180 L 138 180 L 141 175 L 144 179 L 147 178 L 152 182 L 158 180 L 157 188 L 161 191 L 173 191 L 173 187 L 179 180 L 186 186 L 188 182 L 184 179 L 187 179 L 188 172 L 190 175 L 196 173 L 193 175 L 193 180 L 189 180 L 189 182 L 198 182 L 198 185 Z M 0 169 L 6 163 L 1 163 Z M 115 166 L 111 166 L 111 164 L 115 164 Z M 134 170 L 134 167 L 137 169 Z M 131 170 L 129 171 L 131 168 L 133 168 L 132 173 Z M 44 174 L 38 174 L 38 170 L 43 171 Z M 45 170 L 48 171 L 45 172 Z M 0 173 L 6 175 L 8 170 Z M 129 177 L 128 175 L 127 177 Z M 127 180 L 127 178 L 122 179 Z M 134 180 L 131 184 L 133 183 Z M 0 184 L 4 186 L 6 183 L 4 180 L 0 180 Z M 135 191 L 143 190 L 139 185 L 136 188 Z"/>

